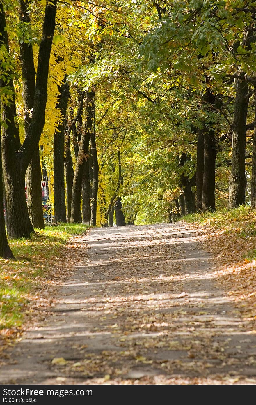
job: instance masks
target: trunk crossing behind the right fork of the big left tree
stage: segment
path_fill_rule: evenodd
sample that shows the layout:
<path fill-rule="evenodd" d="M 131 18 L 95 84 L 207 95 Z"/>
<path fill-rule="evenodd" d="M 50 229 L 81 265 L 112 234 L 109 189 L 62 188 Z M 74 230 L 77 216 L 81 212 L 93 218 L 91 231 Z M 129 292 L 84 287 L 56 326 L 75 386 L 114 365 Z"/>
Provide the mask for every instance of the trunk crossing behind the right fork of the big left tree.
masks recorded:
<path fill-rule="evenodd" d="M 20 5 L 20 19 L 22 23 L 30 23 L 30 16 L 28 13 L 28 3 L 19 0 Z M 34 55 L 32 44 L 26 41 L 21 41 L 20 45 L 20 61 L 22 73 L 22 98 L 24 104 L 24 126 L 25 134 L 28 134 L 31 112 L 34 107 L 34 96 L 36 89 L 36 71 L 34 67 Z M 32 160 L 27 168 L 26 173 L 27 182 L 27 195 L 28 195 L 28 213 L 30 216 L 31 224 L 34 228 L 44 228 L 44 217 L 42 208 L 42 188 L 41 188 L 41 166 L 40 166 L 40 153 L 37 146 Z"/>

